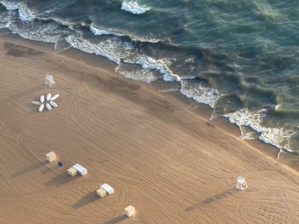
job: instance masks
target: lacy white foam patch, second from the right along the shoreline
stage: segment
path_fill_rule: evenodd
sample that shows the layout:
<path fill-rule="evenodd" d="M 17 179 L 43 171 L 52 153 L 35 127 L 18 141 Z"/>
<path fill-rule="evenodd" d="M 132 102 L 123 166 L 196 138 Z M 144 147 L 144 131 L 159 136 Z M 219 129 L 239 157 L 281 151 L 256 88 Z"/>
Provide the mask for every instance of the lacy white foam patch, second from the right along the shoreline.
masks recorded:
<path fill-rule="evenodd" d="M 196 102 L 208 104 L 211 108 L 214 108 L 216 102 L 223 97 L 217 90 L 203 87 L 201 83 L 194 83 L 187 79 L 181 79 L 180 92 Z"/>

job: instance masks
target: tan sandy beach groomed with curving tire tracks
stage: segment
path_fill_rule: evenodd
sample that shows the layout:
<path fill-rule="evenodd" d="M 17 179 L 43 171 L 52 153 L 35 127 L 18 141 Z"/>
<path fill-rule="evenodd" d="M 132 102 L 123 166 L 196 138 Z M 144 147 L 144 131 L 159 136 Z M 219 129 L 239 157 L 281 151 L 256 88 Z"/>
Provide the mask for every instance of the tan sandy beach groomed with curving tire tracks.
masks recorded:
<path fill-rule="evenodd" d="M 208 121 L 210 109 L 125 79 L 102 57 L 52 49 L 0 39 L 0 223 L 299 223 L 296 171 Z M 47 93 L 58 108 L 38 113 L 30 101 Z M 89 174 L 67 175 L 75 163 Z M 100 199 L 104 182 L 115 194 Z"/>

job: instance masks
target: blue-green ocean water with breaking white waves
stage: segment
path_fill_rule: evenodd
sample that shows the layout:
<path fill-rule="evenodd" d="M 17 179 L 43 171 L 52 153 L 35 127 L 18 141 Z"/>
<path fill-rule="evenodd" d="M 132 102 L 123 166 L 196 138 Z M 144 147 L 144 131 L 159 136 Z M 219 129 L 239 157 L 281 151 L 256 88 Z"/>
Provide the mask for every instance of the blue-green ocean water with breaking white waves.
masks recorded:
<path fill-rule="evenodd" d="M 282 151 L 299 148 L 294 0 L 0 0 L 0 35 L 107 57 L 123 76 L 167 83 Z"/>

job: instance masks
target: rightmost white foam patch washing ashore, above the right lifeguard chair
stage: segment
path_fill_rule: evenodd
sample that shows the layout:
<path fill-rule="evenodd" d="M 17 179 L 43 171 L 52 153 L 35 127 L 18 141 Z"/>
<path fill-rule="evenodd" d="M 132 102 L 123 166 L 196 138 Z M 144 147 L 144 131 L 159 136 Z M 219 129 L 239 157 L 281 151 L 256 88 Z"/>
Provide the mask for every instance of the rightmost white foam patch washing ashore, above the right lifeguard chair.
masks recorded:
<path fill-rule="evenodd" d="M 288 151 L 292 151 L 290 137 L 295 134 L 294 131 L 280 128 L 267 128 L 262 125 L 262 120 L 266 115 L 267 110 L 262 109 L 258 111 L 249 111 L 247 108 L 243 108 L 234 113 L 222 115 L 228 117 L 231 123 L 238 126 L 249 126 L 253 130 L 261 133 L 259 139 L 276 146 L 277 148 L 284 148 Z"/>

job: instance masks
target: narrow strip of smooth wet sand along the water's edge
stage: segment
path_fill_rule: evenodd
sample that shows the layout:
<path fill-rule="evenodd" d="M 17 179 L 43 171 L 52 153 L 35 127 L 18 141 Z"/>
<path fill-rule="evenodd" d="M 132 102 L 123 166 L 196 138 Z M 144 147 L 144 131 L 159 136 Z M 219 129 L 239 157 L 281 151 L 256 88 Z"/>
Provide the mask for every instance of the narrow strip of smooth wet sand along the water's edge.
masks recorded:
<path fill-rule="evenodd" d="M 119 76 L 125 80 L 132 80 L 132 81 L 138 83 L 138 85 L 143 85 L 148 88 L 153 88 L 155 90 L 155 92 L 158 94 L 158 89 L 155 87 L 151 87 L 148 83 L 138 81 L 138 80 L 128 79 L 128 78 L 124 77 L 123 75 L 116 73 L 114 71 L 114 68 L 117 67 L 117 64 L 115 62 L 112 62 L 111 60 L 107 59 L 104 56 L 86 53 L 86 52 L 83 52 L 81 50 L 78 50 L 78 49 L 75 49 L 72 47 L 70 47 L 67 50 L 64 50 L 60 53 L 57 53 L 54 51 L 54 43 L 46 43 L 46 42 L 41 42 L 41 41 L 27 40 L 27 39 L 20 37 L 18 34 L 11 34 L 11 33 L 6 34 L 6 35 L 1 36 L 0 40 L 2 38 L 6 39 L 5 37 L 9 36 L 9 35 L 13 36 L 14 39 L 16 39 L 13 41 L 10 39 L 9 42 L 18 43 L 21 41 L 22 44 L 26 45 L 26 43 L 27 43 L 26 46 L 35 46 L 35 47 L 41 48 L 43 50 L 44 50 L 44 48 L 46 48 L 47 52 L 49 52 L 49 53 L 56 53 L 56 54 L 61 54 L 63 56 L 67 56 L 70 59 L 77 60 L 79 63 L 84 63 L 85 65 L 91 66 L 93 68 L 97 68 L 97 69 L 104 68 L 105 70 L 108 70 L 111 73 L 115 73 L 116 76 Z M 83 57 L 81 57 L 81 55 L 84 55 L 84 59 L 82 59 Z M 98 58 L 98 60 L 96 60 L 96 58 Z M 230 136 L 233 136 L 236 139 L 238 139 L 240 137 L 239 127 L 235 124 L 230 123 L 228 118 L 225 118 L 223 116 L 218 116 L 218 117 L 213 118 L 212 120 L 209 120 L 210 116 L 213 112 L 213 109 L 210 108 L 210 106 L 202 104 L 202 103 L 198 103 L 193 99 L 187 98 L 186 96 L 181 94 L 179 91 L 161 92 L 160 94 L 174 96 L 178 100 L 183 101 L 186 104 L 185 105 L 186 107 L 187 107 L 187 103 L 190 102 L 190 104 L 191 104 L 191 101 L 192 101 L 193 104 L 197 105 L 196 109 L 192 110 L 192 112 L 196 116 L 199 116 L 199 117 L 207 120 L 207 124 L 210 123 L 212 125 L 216 125 L 217 128 L 220 128 L 222 131 L 229 134 Z M 202 113 L 202 111 L 203 111 L 203 113 Z M 292 164 L 292 163 L 287 163 L 287 162 L 277 160 L 280 149 L 278 149 L 274 145 L 263 142 L 262 140 L 260 140 L 258 138 L 253 139 L 253 140 L 247 140 L 247 139 L 240 140 L 240 142 L 242 142 L 243 144 L 258 151 L 259 153 L 263 154 L 263 156 L 271 158 L 274 162 L 278 162 L 280 165 L 291 168 L 296 173 L 299 172 L 299 163 Z M 282 153 L 289 154 L 291 156 L 296 157 L 296 155 L 291 152 L 287 152 L 287 151 L 283 150 Z"/>

